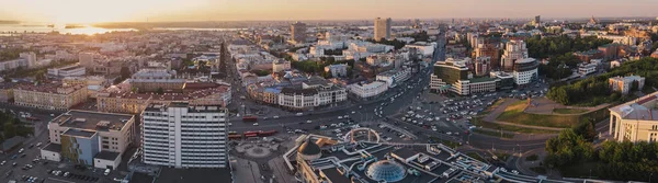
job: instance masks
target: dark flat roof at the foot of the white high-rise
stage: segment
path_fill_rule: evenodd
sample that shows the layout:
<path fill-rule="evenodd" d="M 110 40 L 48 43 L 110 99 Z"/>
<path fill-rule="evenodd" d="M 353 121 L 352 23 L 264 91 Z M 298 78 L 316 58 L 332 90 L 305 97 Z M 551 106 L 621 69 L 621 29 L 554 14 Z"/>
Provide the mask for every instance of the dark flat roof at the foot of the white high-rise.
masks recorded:
<path fill-rule="evenodd" d="M 225 169 L 173 169 L 163 167 L 155 183 L 219 183 L 234 182 L 228 168 Z"/>

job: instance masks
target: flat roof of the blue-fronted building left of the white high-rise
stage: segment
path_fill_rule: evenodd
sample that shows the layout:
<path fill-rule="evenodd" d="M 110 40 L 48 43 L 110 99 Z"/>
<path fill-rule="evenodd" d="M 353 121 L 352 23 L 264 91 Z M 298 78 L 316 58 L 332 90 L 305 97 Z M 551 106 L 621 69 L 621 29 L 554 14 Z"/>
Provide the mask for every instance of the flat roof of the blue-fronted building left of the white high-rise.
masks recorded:
<path fill-rule="evenodd" d="M 63 127 L 107 131 L 121 130 L 133 117 L 133 115 L 127 114 L 73 110 L 57 116 L 50 123 L 58 123 Z"/>

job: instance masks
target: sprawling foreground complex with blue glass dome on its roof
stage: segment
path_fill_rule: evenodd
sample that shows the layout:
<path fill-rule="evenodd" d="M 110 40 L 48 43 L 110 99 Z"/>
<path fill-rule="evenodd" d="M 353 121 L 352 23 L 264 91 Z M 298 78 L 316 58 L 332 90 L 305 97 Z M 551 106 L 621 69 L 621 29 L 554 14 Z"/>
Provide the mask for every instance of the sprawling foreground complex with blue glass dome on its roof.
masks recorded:
<path fill-rule="evenodd" d="M 367 133 L 370 137 L 370 133 L 376 131 Z M 359 141 L 358 146 L 353 144 L 317 135 L 303 136 L 293 149 L 284 153 L 283 159 L 288 170 L 295 172 L 303 183 L 452 183 L 481 182 L 499 176 L 498 167 L 441 144 L 400 145 L 404 147 L 375 141 Z"/>

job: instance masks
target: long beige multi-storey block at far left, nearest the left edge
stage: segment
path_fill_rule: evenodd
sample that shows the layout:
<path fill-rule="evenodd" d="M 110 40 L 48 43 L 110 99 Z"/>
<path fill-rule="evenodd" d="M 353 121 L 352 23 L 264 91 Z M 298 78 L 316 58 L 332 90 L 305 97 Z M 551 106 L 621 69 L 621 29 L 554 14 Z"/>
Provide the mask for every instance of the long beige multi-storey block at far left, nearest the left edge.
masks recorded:
<path fill-rule="evenodd" d="M 89 96 L 87 85 L 60 82 L 19 84 L 13 90 L 14 104 L 45 110 L 67 111 Z"/>

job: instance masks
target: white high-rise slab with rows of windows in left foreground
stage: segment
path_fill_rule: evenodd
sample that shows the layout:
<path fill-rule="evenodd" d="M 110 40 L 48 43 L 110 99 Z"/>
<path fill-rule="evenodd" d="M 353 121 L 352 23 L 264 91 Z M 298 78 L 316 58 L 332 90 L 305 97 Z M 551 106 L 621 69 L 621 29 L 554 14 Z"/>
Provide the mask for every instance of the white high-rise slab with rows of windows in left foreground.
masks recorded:
<path fill-rule="evenodd" d="M 141 113 L 143 161 L 175 168 L 226 168 L 228 111 L 220 105 L 149 104 Z"/>

